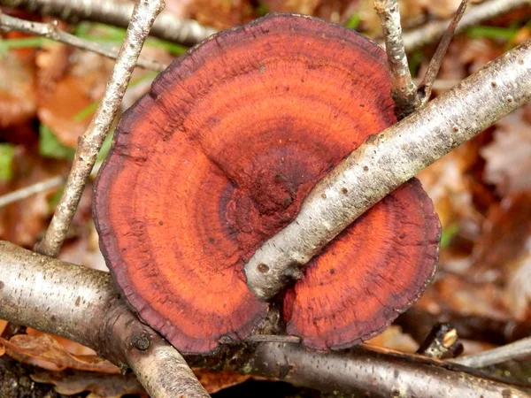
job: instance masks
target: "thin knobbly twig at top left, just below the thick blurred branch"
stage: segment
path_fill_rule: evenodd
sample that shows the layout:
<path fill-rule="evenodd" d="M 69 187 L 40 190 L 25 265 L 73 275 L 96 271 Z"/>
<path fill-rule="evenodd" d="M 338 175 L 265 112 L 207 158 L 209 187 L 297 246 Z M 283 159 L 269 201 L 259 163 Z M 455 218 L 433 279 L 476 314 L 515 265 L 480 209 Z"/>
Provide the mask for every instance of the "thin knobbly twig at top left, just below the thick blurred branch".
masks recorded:
<path fill-rule="evenodd" d="M 118 57 L 118 48 L 114 46 L 102 47 L 95 42 L 89 42 L 88 40 L 81 39 L 73 34 L 68 34 L 60 30 L 55 21 L 52 23 L 43 24 L 40 22 L 11 17 L 0 11 L 0 28 L 3 27 L 9 28 L 11 30 L 18 30 L 19 32 L 25 32 L 27 34 L 35 34 L 50 40 L 55 40 L 56 42 L 62 42 L 73 47 L 77 47 L 78 49 L 89 50 L 111 59 L 116 59 Z M 162 72 L 166 67 L 166 65 L 162 65 L 156 61 L 152 61 L 144 57 L 139 57 L 136 65 L 155 72 Z"/>

